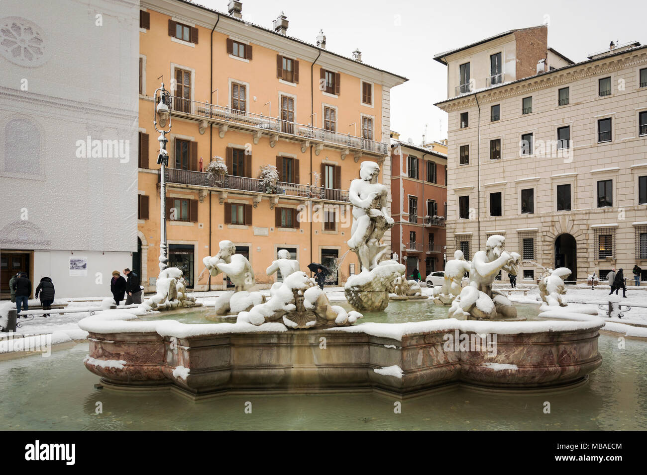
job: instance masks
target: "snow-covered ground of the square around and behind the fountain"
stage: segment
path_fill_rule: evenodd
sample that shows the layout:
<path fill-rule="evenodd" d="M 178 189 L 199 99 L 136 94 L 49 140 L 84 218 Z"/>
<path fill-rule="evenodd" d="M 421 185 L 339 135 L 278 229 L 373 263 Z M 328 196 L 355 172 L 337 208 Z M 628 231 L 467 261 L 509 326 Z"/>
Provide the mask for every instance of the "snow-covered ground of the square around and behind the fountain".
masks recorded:
<path fill-rule="evenodd" d="M 501 291 L 510 290 L 510 286 L 505 284 L 495 284 L 494 288 Z M 510 293 L 511 301 L 539 304 L 539 290 L 536 284 L 520 284 L 518 290 L 527 290 L 527 295 L 523 295 L 523 291 Z M 342 287 L 327 287 L 325 291 L 331 301 L 345 301 L 344 289 Z M 432 294 L 431 288 L 423 287 L 422 291 L 427 295 Z M 269 290 L 263 290 L 261 292 L 269 296 Z M 195 292 L 194 295 L 197 298 L 197 302 L 201 302 L 205 306 L 210 306 L 214 304 L 216 297 L 222 293 L 223 291 Z M 105 296 L 86 297 L 83 299 L 56 299 L 54 304 L 67 304 L 70 308 L 73 307 L 78 310 L 87 308 L 90 310 L 100 306 L 102 299 L 105 299 Z M 635 324 L 637 326 L 633 327 L 630 335 L 647 337 L 647 286 L 634 287 L 631 285 L 627 288 L 626 299 L 623 299 L 622 295 L 609 295 L 609 286 L 598 286 L 595 290 L 591 290 L 590 287 L 586 286 L 569 287 L 565 299 L 567 302 L 581 302 L 596 307 L 598 304 L 606 305 L 609 301 L 633 306 L 630 311 L 624 311 L 624 317 L 622 319 L 606 319 L 609 322 L 606 330 L 623 333 L 626 324 Z M 29 304 L 36 305 L 39 302 L 33 300 Z M 636 305 L 642 305 L 645 308 L 640 308 Z M 6 321 L 8 310 L 14 308 L 14 306 L 15 304 L 10 301 L 0 301 L 1 324 L 4 324 Z M 35 317 L 30 321 L 19 319 L 22 326 L 18 328 L 16 336 L 51 333 L 56 337 L 54 339 L 57 341 L 69 341 L 70 339 L 83 340 L 87 336 L 87 332 L 80 330 L 78 322 L 90 315 L 89 310 L 78 313 L 65 313 L 63 315 L 51 314 L 50 317 Z M 606 311 L 598 310 L 598 316 L 606 318 Z"/>

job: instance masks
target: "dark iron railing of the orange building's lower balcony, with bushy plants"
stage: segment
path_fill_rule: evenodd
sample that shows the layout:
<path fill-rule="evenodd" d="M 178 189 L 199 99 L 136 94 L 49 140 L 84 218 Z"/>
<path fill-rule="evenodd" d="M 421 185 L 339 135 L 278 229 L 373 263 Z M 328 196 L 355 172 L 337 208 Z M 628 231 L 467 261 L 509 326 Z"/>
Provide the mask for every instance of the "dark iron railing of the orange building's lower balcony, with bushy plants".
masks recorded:
<path fill-rule="evenodd" d="M 278 182 L 274 187 L 266 185 L 258 178 L 234 175 L 213 175 L 202 171 L 166 169 L 166 181 L 183 185 L 224 188 L 270 195 L 298 196 L 308 200 L 329 200 L 348 202 L 348 191 L 296 183 Z"/>

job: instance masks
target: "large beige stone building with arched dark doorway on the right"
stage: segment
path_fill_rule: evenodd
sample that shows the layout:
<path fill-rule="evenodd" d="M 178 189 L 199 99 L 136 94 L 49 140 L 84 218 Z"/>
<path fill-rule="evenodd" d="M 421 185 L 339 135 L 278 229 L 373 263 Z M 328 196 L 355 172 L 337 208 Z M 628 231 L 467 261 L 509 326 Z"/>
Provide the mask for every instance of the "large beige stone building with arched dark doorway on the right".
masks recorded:
<path fill-rule="evenodd" d="M 634 264 L 647 280 L 647 45 L 573 63 L 546 39 L 510 30 L 434 57 L 448 66 L 447 254 L 499 234 L 523 257 L 519 282 L 542 266 L 633 282 Z"/>

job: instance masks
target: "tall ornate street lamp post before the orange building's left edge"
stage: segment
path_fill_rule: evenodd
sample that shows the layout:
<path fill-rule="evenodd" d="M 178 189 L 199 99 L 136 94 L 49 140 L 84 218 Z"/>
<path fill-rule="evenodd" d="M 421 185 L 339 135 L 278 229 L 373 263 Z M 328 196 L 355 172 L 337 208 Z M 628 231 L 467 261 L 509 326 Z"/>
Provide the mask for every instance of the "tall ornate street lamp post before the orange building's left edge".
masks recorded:
<path fill-rule="evenodd" d="M 157 93 L 159 92 L 159 99 Z M 166 151 L 166 143 L 168 138 L 166 134 L 171 132 L 171 94 L 168 90 L 164 89 L 164 83 L 162 82 L 162 87 L 155 90 L 155 99 L 154 103 L 157 103 L 155 111 L 153 111 L 153 125 L 155 125 L 155 130 L 160 132 L 160 136 L 157 140 L 160 143 L 160 153 L 157 156 L 157 164 L 161 165 L 160 169 L 160 272 L 168 268 L 168 246 L 166 244 L 166 167 L 168 166 L 168 151 Z M 157 127 L 157 120 L 159 118 L 159 123 L 161 130 Z M 168 120 L 168 130 L 164 127 L 166 121 Z"/>

